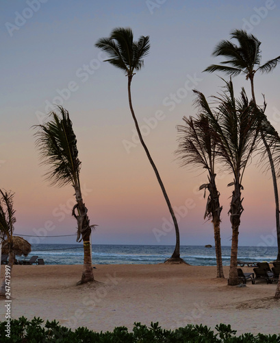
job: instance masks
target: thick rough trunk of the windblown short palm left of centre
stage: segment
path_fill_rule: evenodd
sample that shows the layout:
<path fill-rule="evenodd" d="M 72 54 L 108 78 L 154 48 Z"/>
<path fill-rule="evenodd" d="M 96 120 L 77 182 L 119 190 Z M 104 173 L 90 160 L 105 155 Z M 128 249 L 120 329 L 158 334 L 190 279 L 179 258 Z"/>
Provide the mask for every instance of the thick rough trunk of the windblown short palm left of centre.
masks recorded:
<path fill-rule="evenodd" d="M 91 235 L 91 228 L 89 225 L 88 220 L 88 209 L 83 202 L 83 198 L 81 198 L 81 189 L 79 186 L 75 187 L 76 193 L 76 200 L 77 200 L 77 209 L 79 215 L 75 215 L 78 224 L 78 232 L 83 237 L 84 242 L 84 270 L 81 274 L 81 280 L 77 283 L 80 285 L 81 283 L 87 283 L 90 281 L 94 281 L 93 271 L 92 271 L 92 256 L 90 254 L 90 235 Z M 75 207 L 75 206 L 74 206 Z M 74 213 L 74 209 L 73 209 Z"/>

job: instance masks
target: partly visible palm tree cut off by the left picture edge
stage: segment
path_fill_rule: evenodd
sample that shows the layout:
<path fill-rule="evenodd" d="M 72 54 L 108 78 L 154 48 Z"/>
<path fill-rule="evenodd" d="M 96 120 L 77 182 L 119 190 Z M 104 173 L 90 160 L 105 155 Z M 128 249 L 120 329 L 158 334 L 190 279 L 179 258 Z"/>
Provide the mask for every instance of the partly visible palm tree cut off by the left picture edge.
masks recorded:
<path fill-rule="evenodd" d="M 16 223 L 16 212 L 13 208 L 14 193 L 11 191 L 3 191 L 0 189 L 0 240 L 5 241 L 8 244 L 8 255 L 9 255 L 9 267 L 12 272 L 12 266 L 14 265 L 15 254 L 13 250 L 13 233 L 14 224 Z M 8 278 L 3 278 L 3 282 L 0 287 L 0 295 L 5 295 L 6 281 Z M 7 285 L 8 286 L 8 285 Z"/>

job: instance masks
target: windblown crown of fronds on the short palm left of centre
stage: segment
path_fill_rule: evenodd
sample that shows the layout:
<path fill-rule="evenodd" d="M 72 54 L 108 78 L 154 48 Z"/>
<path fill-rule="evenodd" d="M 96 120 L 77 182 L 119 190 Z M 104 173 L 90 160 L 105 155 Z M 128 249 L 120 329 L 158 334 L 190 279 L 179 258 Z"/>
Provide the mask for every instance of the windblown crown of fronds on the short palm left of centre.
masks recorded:
<path fill-rule="evenodd" d="M 34 126 L 36 147 L 42 165 L 48 165 L 49 171 L 44 175 L 51 185 L 63 187 L 69 183 L 73 187 L 79 185 L 81 162 L 78 158 L 77 139 L 67 110 L 58 106 L 59 115 L 52 112 L 50 120 L 42 125 Z"/>

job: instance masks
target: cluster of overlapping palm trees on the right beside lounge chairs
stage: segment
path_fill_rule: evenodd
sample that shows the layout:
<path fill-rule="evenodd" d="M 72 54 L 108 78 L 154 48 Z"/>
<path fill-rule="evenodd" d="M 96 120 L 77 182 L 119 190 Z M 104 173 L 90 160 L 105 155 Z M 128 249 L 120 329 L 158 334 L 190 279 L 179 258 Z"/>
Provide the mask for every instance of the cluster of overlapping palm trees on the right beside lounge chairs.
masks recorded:
<path fill-rule="evenodd" d="M 185 125 L 178 126 L 179 147 L 178 157 L 183 165 L 200 166 L 208 171 L 208 183 L 200 189 L 208 189 L 209 197 L 205 217 L 212 219 L 216 244 L 217 277 L 223 277 L 220 250 L 220 211 L 219 193 L 216 188 L 215 164 L 220 169 L 225 168 L 233 174 L 231 204 L 229 209 L 232 228 L 231 264 L 229 269 L 229 285 L 238 284 L 237 257 L 238 233 L 242 206 L 242 177 L 252 155 L 261 154 L 262 160 L 268 158 L 272 171 L 275 191 L 275 212 L 277 227 L 278 254 L 280 260 L 280 227 L 279 198 L 277 190 L 277 175 L 275 162 L 279 165 L 280 138 L 264 114 L 266 102 L 258 106 L 255 99 L 254 76 L 257 71 L 262 73 L 272 71 L 280 62 L 280 56 L 261 65 L 260 42 L 252 34 L 236 29 L 231 38 L 238 40 L 238 45 L 229 40 L 222 40 L 214 49 L 214 56 L 222 56 L 226 60 L 221 64 L 212 64 L 205 69 L 210 73 L 222 71 L 227 75 L 236 76 L 243 73 L 251 82 L 252 99 L 249 101 L 244 88 L 240 97 L 236 98 L 231 78 L 225 81 L 225 91 L 218 96 L 212 96 L 214 106 L 210 106 L 203 93 L 196 94 L 196 106 L 199 109 L 197 117 L 184 117 Z M 279 176 L 279 175 L 278 175 Z M 280 281 L 279 281 L 280 282 Z M 280 283 L 277 285 L 279 297 Z"/>

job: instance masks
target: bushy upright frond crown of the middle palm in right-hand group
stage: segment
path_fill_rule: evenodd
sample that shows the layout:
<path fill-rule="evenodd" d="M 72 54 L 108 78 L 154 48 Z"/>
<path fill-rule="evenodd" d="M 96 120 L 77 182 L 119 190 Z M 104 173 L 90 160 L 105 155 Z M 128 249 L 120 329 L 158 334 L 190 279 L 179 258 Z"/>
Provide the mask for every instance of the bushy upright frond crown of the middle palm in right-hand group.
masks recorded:
<path fill-rule="evenodd" d="M 249 103 L 244 89 L 240 98 L 236 99 L 231 80 L 226 82 L 225 91 L 215 99 L 216 108 L 209 108 L 209 104 L 202 93 L 195 91 L 196 104 L 203 109 L 209 118 L 212 130 L 218 134 L 216 140 L 216 155 L 220 162 L 232 170 L 236 180 L 238 174 L 249 163 L 259 128 L 259 113 L 256 106 Z"/>

